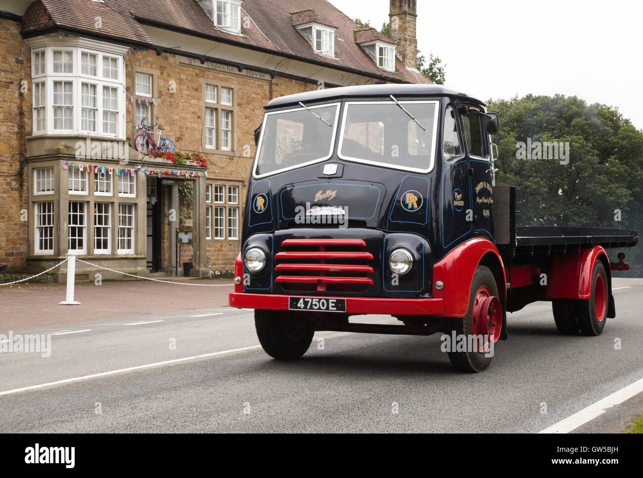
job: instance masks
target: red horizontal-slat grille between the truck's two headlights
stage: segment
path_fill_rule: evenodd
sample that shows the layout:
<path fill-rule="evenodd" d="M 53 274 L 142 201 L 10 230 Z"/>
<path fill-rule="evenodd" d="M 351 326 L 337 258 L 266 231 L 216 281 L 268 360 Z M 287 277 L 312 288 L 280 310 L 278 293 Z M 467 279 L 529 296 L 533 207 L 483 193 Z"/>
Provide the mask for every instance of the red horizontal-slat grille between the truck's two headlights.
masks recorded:
<path fill-rule="evenodd" d="M 286 239 L 275 254 L 275 282 L 289 291 L 363 292 L 374 284 L 365 247 L 361 239 Z"/>

